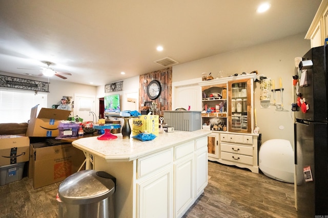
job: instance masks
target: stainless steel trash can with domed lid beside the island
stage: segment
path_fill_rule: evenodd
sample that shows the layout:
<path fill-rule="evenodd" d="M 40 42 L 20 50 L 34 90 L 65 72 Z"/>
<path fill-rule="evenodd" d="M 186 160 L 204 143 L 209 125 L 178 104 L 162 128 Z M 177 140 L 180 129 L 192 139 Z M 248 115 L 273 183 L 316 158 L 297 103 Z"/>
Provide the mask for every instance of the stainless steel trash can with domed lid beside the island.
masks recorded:
<path fill-rule="evenodd" d="M 114 217 L 115 184 L 104 171 L 74 173 L 59 185 L 59 217 Z"/>

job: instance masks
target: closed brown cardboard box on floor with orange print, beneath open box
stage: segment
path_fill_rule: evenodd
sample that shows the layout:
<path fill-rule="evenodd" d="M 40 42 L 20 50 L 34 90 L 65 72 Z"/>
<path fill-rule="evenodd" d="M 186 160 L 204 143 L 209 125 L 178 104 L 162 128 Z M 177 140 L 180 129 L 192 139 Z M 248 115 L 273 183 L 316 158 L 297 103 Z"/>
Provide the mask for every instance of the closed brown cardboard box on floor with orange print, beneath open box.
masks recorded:
<path fill-rule="evenodd" d="M 72 144 L 48 146 L 47 143 L 33 143 L 31 151 L 29 170 L 34 188 L 65 180 L 77 172 L 85 160 L 84 152 Z"/>

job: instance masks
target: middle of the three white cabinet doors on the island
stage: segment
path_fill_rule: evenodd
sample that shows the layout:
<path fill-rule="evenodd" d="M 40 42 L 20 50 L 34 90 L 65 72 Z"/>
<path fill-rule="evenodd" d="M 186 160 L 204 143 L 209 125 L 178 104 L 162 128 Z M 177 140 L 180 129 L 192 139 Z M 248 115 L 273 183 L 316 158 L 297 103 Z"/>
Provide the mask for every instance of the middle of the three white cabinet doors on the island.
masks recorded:
<path fill-rule="evenodd" d="M 181 217 L 193 200 L 193 162 L 194 155 L 174 164 L 175 167 L 175 215 Z"/>

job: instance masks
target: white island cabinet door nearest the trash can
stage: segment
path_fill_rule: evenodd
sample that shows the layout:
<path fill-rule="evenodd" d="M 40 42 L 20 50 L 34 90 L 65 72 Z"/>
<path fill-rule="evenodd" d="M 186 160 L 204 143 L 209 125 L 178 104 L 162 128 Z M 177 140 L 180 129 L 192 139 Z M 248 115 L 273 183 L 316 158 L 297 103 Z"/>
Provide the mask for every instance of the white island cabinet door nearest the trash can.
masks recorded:
<path fill-rule="evenodd" d="M 137 217 L 173 217 L 173 167 L 137 183 Z"/>

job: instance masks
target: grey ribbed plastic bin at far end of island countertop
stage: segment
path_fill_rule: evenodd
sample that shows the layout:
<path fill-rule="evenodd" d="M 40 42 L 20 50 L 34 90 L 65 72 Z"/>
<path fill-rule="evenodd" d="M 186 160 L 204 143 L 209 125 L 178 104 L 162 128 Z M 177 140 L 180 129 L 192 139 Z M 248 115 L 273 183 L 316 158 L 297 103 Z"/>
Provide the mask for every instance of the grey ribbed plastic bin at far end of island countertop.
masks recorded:
<path fill-rule="evenodd" d="M 174 130 L 195 131 L 201 128 L 200 111 L 164 111 L 164 120 Z"/>

